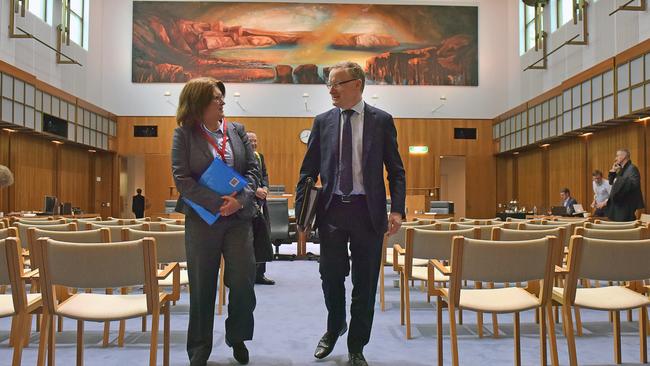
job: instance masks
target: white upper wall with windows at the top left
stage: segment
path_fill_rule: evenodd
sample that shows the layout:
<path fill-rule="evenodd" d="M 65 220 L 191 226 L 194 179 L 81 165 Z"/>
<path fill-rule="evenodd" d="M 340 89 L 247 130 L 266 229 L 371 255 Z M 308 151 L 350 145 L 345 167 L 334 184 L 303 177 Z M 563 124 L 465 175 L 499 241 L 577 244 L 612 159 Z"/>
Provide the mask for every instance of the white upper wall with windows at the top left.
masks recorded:
<path fill-rule="evenodd" d="M 88 1 L 91 22 L 89 49 L 70 43 L 63 53 L 83 65 L 58 65 L 54 51 L 33 39 L 9 38 L 9 2 L 0 1 L 0 60 L 35 75 L 50 85 L 76 97 L 103 106 L 102 98 L 102 9 L 99 1 Z M 97 6 L 100 5 L 100 6 Z M 16 16 L 16 26 L 33 33 L 52 47 L 56 47 L 56 24 L 61 19 L 61 0 L 54 0 L 55 26 L 50 26 L 27 12 L 25 18 Z M 20 33 L 16 31 L 16 33 Z"/>

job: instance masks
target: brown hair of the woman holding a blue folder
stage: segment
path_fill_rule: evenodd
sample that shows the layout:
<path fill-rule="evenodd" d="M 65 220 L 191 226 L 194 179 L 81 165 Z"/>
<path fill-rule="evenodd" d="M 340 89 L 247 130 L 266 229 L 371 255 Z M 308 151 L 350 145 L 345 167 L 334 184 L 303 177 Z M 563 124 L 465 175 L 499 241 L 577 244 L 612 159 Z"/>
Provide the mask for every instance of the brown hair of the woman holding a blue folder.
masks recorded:
<path fill-rule="evenodd" d="M 226 86 L 220 80 L 211 77 L 192 79 L 185 84 L 178 97 L 176 123 L 179 126 L 194 126 L 201 123 L 203 112 L 214 100 L 214 88 L 226 96 Z"/>

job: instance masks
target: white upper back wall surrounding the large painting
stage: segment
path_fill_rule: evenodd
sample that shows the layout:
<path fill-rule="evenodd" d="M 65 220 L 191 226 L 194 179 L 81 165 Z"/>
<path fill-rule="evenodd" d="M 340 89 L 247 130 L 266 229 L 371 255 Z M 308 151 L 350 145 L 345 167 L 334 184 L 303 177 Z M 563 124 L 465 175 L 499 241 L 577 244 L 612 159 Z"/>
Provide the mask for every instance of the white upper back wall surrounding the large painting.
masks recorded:
<path fill-rule="evenodd" d="M 167 116 L 175 114 L 182 84 L 134 84 L 131 82 L 132 1 L 95 1 L 103 6 L 103 79 L 101 94 L 105 108 L 117 115 Z M 323 2 L 322 0 L 303 0 Z M 368 0 L 345 1 L 369 3 Z M 417 118 L 493 118 L 503 112 L 507 95 L 503 80 L 506 74 L 507 34 L 504 14 L 507 0 L 439 0 L 439 1 L 372 1 L 373 3 L 411 3 L 479 6 L 479 86 L 368 86 L 366 100 L 396 117 Z M 331 107 L 324 85 L 228 84 L 226 115 L 231 116 L 314 116 Z M 171 97 L 165 97 L 171 91 Z M 242 110 L 233 99 L 241 93 Z M 309 111 L 303 93 L 309 93 Z M 377 99 L 372 99 L 377 95 Z M 432 110 L 445 105 L 436 113 Z"/>

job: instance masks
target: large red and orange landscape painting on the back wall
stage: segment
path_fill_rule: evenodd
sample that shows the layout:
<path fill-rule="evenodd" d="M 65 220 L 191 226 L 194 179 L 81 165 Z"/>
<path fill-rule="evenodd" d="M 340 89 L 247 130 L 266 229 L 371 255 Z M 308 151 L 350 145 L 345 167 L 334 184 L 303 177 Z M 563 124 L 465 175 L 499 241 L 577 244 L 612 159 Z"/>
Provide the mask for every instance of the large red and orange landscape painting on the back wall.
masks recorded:
<path fill-rule="evenodd" d="M 345 60 L 368 84 L 476 86 L 478 8 L 133 2 L 135 83 L 321 84 Z"/>

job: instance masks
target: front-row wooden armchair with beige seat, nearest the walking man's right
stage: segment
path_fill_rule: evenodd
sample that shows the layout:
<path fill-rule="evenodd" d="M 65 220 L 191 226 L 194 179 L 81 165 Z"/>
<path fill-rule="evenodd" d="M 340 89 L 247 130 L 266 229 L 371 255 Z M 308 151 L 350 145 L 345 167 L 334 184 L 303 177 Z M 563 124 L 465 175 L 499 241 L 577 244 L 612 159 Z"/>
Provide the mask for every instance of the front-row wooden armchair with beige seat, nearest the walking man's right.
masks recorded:
<path fill-rule="evenodd" d="M 551 359 L 557 365 L 557 346 L 550 298 L 556 237 L 526 241 L 488 241 L 455 237 L 451 265 L 432 260 L 429 271 L 449 276 L 449 288 L 434 289 L 438 297 L 438 364 L 442 365 L 442 301 L 449 306 L 452 365 L 458 366 L 456 309 L 488 313 L 514 313 L 515 365 L 521 364 L 519 313 L 535 309 L 540 316 L 540 359 L 546 365 L 546 334 L 550 335 Z M 463 280 L 481 282 L 527 282 L 526 288 L 461 289 Z M 540 281 L 541 280 L 541 281 Z M 546 310 L 546 312 L 544 312 Z M 544 314 L 546 313 L 546 314 Z M 546 315 L 546 316 L 545 316 Z M 546 320 L 549 320 L 547 332 Z"/>

